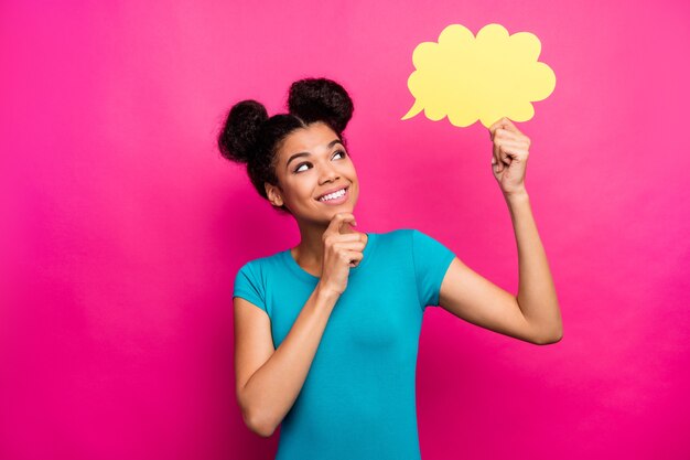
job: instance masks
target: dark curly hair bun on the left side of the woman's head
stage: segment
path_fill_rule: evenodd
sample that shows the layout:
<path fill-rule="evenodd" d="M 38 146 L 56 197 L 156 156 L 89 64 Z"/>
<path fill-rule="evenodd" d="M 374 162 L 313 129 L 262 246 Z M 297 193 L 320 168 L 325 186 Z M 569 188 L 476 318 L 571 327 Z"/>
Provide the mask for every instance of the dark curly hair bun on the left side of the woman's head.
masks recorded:
<path fill-rule="evenodd" d="M 262 104 L 241 100 L 229 110 L 218 136 L 218 148 L 223 157 L 240 163 L 249 162 L 261 125 L 268 120 Z"/>

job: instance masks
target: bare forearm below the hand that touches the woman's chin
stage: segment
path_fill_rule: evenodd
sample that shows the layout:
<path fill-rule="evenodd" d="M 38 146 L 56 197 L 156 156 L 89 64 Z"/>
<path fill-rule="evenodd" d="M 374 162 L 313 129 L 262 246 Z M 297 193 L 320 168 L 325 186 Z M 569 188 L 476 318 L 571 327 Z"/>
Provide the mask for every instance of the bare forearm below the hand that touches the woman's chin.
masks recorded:
<path fill-rule="evenodd" d="M 247 382 L 242 398 L 258 434 L 270 436 L 294 404 L 338 297 L 316 285 L 280 346 Z"/>

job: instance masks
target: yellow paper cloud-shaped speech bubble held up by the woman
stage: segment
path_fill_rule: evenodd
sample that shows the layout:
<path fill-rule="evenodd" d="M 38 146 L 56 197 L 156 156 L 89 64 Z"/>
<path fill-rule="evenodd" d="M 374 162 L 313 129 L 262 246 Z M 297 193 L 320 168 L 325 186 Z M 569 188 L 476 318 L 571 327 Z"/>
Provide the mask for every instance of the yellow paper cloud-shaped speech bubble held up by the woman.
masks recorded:
<path fill-rule="evenodd" d="M 408 78 L 414 105 L 402 117 L 424 110 L 427 118 L 464 128 L 477 119 L 489 127 L 502 117 L 526 121 L 530 101 L 546 99 L 556 87 L 551 67 L 537 62 L 541 42 L 530 32 L 513 35 L 500 24 L 482 28 L 475 38 L 460 24 L 443 29 L 439 42 L 423 42 L 412 53 Z"/>

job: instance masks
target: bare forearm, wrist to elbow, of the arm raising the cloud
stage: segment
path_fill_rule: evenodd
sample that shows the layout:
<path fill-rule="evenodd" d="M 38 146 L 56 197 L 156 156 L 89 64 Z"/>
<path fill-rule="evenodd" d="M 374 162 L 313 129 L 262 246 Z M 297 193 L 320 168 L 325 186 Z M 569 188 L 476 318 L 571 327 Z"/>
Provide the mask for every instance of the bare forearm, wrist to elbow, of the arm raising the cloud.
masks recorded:
<path fill-rule="evenodd" d="M 563 325 L 547 255 L 539 238 L 527 192 L 507 195 L 517 240 L 519 288 L 517 302 L 541 341 L 558 341 Z"/>

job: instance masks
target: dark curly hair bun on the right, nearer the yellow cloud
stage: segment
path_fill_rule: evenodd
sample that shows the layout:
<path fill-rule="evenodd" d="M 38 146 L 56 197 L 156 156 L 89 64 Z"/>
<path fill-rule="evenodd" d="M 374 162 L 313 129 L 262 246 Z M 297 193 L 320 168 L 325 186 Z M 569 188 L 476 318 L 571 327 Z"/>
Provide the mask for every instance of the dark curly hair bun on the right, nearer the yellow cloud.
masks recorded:
<path fill-rule="evenodd" d="M 290 86 L 288 110 L 306 124 L 326 121 L 341 133 L 353 109 L 353 100 L 345 88 L 332 79 L 303 78 Z"/>

